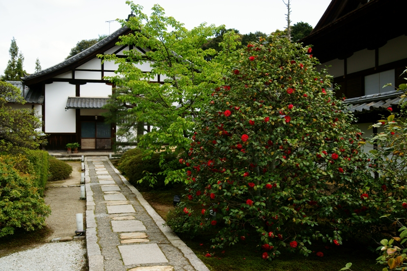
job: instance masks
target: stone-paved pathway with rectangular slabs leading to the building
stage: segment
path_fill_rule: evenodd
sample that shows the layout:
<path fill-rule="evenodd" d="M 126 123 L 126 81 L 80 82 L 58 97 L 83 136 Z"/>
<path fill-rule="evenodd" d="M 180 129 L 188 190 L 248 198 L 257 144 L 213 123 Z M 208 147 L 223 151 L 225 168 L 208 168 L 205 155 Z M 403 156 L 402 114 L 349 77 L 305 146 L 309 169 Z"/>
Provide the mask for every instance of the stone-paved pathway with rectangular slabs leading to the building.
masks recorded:
<path fill-rule="evenodd" d="M 89 270 L 209 271 L 107 157 L 85 158 Z"/>

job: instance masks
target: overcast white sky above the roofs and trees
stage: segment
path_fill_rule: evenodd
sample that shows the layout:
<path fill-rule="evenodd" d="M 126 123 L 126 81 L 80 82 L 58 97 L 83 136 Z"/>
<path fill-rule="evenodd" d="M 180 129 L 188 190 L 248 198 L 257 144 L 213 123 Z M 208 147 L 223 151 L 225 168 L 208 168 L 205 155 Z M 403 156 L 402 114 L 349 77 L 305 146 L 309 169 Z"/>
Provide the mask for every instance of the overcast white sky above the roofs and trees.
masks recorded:
<path fill-rule="evenodd" d="M 291 0 L 292 24 L 308 22 L 313 27 L 331 0 Z M 138 0 L 143 12 L 159 4 L 167 16 L 188 29 L 201 22 L 236 28 L 241 34 L 261 31 L 266 34 L 286 26 L 286 7 L 282 0 Z M 38 57 L 42 69 L 60 63 L 80 40 L 109 34 L 106 21 L 127 18 L 130 8 L 125 0 L 0 0 L 0 75 L 10 59 L 12 38 L 24 55 L 24 69 L 34 72 Z M 121 25 L 110 23 L 110 33 Z"/>

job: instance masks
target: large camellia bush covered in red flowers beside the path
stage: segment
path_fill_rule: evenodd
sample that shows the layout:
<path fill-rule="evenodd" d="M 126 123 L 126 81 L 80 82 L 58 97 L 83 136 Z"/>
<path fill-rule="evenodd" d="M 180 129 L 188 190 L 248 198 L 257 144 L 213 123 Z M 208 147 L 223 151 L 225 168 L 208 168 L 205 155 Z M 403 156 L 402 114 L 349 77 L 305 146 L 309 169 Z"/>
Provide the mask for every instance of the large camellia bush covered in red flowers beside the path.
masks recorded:
<path fill-rule="evenodd" d="M 255 230 L 264 259 L 282 248 L 308 255 L 313 239 L 339 246 L 345 231 L 397 214 L 387 208 L 394 191 L 374 182 L 362 133 L 329 89 L 332 78 L 316 71 L 312 49 L 271 40 L 238 51 L 201 108 L 188 158 L 180 159 L 188 167 L 184 217 L 168 222 L 180 231 L 213 229 L 212 248 Z"/>

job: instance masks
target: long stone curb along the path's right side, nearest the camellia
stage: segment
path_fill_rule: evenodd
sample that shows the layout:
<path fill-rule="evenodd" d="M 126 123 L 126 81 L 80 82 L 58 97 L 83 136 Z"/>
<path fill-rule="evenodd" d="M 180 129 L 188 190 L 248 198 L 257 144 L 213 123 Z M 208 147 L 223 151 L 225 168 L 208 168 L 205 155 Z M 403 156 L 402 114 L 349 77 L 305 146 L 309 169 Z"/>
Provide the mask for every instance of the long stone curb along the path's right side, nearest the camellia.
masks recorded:
<path fill-rule="evenodd" d="M 153 207 L 151 207 L 151 205 L 143 198 L 143 196 L 140 194 L 140 192 L 138 192 L 138 190 L 128 182 L 128 180 L 120 173 L 120 171 L 113 166 L 113 164 L 110 162 L 110 160 L 106 160 L 106 161 L 109 163 L 111 168 L 114 169 L 114 172 L 120 176 L 123 183 L 131 190 L 131 192 L 133 192 L 136 195 L 137 200 L 144 207 L 144 209 L 147 210 L 147 213 L 151 216 L 151 218 L 157 224 L 158 228 L 160 228 L 162 233 L 168 238 L 168 240 L 171 242 L 171 244 L 174 247 L 181 250 L 182 253 L 184 253 L 185 258 L 187 258 L 189 260 L 191 265 L 197 271 L 210 271 L 208 269 L 208 267 L 195 255 L 195 253 L 187 245 L 185 245 L 183 240 L 181 240 L 180 237 L 178 237 L 178 235 L 175 234 L 170 227 L 168 227 L 168 226 L 164 227 L 165 221 L 160 217 L 160 215 L 157 214 L 157 212 L 153 209 Z M 89 271 L 91 271 L 91 269 L 89 269 Z"/>

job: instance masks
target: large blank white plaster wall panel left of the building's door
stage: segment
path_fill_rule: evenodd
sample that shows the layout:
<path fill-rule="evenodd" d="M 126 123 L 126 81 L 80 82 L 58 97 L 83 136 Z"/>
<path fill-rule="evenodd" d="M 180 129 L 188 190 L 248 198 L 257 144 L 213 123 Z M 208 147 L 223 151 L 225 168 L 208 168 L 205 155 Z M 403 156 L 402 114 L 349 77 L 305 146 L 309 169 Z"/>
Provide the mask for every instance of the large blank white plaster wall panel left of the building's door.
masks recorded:
<path fill-rule="evenodd" d="M 75 96 L 75 85 L 53 82 L 45 85 L 45 132 L 75 133 L 75 109 L 65 111 L 67 99 Z"/>

